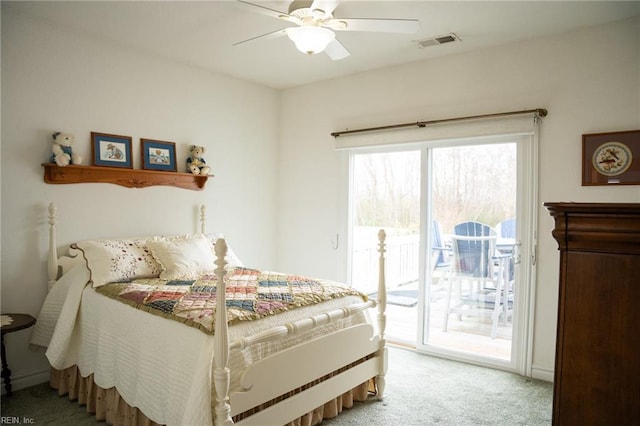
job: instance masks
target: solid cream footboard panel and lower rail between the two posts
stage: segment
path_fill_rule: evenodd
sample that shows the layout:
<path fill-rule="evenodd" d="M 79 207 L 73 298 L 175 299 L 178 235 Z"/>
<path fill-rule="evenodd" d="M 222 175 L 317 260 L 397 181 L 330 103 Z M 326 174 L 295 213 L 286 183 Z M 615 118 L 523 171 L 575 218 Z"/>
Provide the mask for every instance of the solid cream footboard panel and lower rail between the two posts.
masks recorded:
<path fill-rule="evenodd" d="M 360 324 L 262 359 L 243 373 L 245 390 L 231 394 L 231 414 L 264 406 L 237 424 L 288 423 L 377 376 L 379 344 L 373 327 Z"/>

